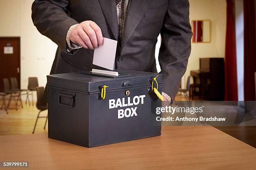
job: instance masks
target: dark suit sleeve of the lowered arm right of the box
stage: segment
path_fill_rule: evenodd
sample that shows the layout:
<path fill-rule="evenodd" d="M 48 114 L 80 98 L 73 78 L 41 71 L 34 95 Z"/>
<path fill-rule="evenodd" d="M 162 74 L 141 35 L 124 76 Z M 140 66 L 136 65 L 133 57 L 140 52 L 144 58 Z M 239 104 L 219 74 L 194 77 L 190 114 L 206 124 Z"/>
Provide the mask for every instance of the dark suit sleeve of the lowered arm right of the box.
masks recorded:
<path fill-rule="evenodd" d="M 162 91 L 174 100 L 191 52 L 188 0 L 168 1 L 161 37 L 159 63 L 163 73 Z"/>

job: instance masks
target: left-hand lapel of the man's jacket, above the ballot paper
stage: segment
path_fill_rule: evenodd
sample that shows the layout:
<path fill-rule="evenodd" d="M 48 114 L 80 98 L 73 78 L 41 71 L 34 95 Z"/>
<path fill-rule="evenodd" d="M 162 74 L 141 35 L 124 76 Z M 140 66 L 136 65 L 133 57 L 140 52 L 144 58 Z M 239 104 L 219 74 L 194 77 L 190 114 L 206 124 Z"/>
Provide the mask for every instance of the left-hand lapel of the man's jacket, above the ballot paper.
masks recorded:
<path fill-rule="evenodd" d="M 116 11 L 116 0 L 99 0 L 101 9 L 105 15 L 108 25 L 115 37 L 118 40 L 118 16 Z"/>

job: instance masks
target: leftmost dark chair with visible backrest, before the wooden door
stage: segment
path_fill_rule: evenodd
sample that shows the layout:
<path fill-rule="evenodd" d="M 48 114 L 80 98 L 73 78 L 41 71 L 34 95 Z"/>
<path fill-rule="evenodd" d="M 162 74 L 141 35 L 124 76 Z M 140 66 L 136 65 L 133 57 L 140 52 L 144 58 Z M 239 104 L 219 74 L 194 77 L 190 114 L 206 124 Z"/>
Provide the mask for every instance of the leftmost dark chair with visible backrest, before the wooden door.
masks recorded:
<path fill-rule="evenodd" d="M 4 93 L 7 94 L 7 95 L 10 95 L 7 107 L 10 106 L 11 100 L 15 101 L 16 110 L 18 110 L 18 101 L 20 101 L 21 107 L 23 107 L 21 97 L 20 97 L 20 91 L 10 90 L 10 83 L 9 83 L 9 80 L 7 78 L 4 78 L 3 82 L 4 82 Z M 15 99 L 15 97 L 17 97 L 17 99 Z"/>

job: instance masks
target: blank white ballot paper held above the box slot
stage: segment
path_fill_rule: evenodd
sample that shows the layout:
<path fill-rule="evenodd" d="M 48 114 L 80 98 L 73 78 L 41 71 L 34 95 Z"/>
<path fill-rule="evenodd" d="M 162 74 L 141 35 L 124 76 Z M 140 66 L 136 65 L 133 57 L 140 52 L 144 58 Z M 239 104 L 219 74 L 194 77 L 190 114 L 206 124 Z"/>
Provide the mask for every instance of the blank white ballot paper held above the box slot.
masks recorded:
<path fill-rule="evenodd" d="M 94 50 L 92 64 L 114 70 L 117 41 L 103 37 L 103 45 Z"/>

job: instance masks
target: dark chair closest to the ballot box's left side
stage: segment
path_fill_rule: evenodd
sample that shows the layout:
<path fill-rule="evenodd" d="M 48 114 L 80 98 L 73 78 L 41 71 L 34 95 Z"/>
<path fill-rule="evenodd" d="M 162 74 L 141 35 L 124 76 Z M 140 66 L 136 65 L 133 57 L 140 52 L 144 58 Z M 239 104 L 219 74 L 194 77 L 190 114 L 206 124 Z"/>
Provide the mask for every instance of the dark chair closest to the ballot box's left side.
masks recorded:
<path fill-rule="evenodd" d="M 48 114 L 47 114 L 47 116 L 39 116 L 42 111 L 48 109 L 48 105 L 47 105 L 46 101 L 44 100 L 44 87 L 36 87 L 36 93 L 37 93 L 36 108 L 40 111 L 38 112 L 38 115 L 36 117 L 36 123 L 35 123 L 35 126 L 34 126 L 34 129 L 33 129 L 32 133 L 35 132 L 38 118 L 46 118 L 46 121 L 44 123 L 44 129 L 45 129 L 45 126 L 46 126 L 46 122 L 48 120 Z"/>

